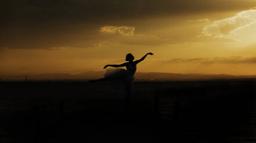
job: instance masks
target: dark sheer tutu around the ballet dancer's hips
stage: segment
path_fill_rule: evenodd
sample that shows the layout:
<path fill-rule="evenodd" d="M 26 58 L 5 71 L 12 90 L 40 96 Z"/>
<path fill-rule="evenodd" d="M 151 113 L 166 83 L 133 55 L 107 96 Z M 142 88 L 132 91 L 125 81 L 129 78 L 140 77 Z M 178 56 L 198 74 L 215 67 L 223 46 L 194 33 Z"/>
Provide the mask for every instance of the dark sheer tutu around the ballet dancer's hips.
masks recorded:
<path fill-rule="evenodd" d="M 116 92 L 125 92 L 125 86 L 131 86 L 133 76 L 128 76 L 125 69 L 107 69 L 104 75 L 109 81 L 109 88 Z"/>

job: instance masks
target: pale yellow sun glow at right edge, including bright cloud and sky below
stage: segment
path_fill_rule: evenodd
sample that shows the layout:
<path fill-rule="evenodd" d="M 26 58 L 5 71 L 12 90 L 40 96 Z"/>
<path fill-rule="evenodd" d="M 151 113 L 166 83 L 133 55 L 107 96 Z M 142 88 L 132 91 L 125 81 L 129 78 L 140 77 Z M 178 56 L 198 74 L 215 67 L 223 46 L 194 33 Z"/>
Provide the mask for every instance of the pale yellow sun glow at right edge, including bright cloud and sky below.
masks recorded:
<path fill-rule="evenodd" d="M 250 9 L 237 13 L 233 17 L 211 21 L 210 24 L 204 26 L 199 36 L 231 40 L 240 46 L 246 46 L 255 42 L 255 33 L 256 9 Z"/>

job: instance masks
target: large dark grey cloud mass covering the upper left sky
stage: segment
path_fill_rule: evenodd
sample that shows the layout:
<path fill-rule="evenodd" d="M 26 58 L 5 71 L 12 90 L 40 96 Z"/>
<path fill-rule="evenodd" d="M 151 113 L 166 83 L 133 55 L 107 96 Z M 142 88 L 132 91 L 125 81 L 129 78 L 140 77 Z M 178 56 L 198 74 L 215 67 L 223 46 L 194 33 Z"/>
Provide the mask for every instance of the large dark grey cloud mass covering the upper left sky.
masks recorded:
<path fill-rule="evenodd" d="M 106 25 L 136 28 L 134 21 L 146 17 L 243 10 L 253 5 L 238 0 L 3 0 L 0 47 L 93 47 L 102 38 L 99 28 Z"/>

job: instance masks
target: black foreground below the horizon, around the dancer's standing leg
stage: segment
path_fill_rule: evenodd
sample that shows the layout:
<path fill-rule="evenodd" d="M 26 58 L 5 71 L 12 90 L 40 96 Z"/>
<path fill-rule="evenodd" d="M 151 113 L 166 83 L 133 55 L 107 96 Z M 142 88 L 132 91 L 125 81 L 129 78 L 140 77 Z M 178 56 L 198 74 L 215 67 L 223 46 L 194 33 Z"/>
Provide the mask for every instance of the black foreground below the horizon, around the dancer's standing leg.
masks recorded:
<path fill-rule="evenodd" d="M 256 84 L 0 82 L 0 142 L 256 142 Z"/>

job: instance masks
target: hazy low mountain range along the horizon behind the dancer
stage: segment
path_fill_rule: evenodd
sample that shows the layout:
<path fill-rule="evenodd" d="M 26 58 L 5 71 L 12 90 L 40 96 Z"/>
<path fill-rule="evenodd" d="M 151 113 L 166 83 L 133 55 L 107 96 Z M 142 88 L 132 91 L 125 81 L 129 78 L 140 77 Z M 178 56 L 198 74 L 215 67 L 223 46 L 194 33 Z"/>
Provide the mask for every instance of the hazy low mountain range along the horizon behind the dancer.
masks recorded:
<path fill-rule="evenodd" d="M 86 71 L 78 74 L 45 73 L 45 74 L 17 74 L 8 75 L 0 73 L 0 81 L 31 81 L 31 80 L 90 80 L 104 77 L 103 71 Z M 177 74 L 177 73 L 136 73 L 135 81 L 190 81 L 190 80 L 225 80 L 256 78 L 256 75 L 233 76 L 228 74 Z"/>

